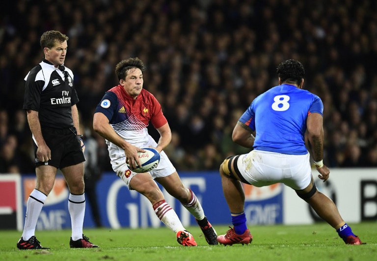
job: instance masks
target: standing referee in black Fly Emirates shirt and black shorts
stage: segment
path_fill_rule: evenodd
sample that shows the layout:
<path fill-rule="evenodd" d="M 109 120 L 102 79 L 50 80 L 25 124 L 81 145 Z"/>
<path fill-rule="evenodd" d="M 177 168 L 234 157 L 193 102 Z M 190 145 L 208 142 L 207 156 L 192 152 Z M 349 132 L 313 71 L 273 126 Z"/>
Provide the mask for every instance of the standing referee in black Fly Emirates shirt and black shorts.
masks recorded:
<path fill-rule="evenodd" d="M 23 109 L 33 134 L 35 189 L 27 200 L 25 226 L 17 242 L 18 249 L 48 249 L 35 237 L 35 227 L 47 196 L 54 186 L 60 168 L 70 194 L 68 210 L 71 215 L 71 248 L 98 247 L 82 233 L 85 213 L 84 164 L 80 135 L 79 102 L 73 73 L 64 66 L 68 37 L 59 31 L 46 31 L 41 36 L 44 59 L 25 77 Z"/>

